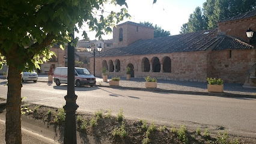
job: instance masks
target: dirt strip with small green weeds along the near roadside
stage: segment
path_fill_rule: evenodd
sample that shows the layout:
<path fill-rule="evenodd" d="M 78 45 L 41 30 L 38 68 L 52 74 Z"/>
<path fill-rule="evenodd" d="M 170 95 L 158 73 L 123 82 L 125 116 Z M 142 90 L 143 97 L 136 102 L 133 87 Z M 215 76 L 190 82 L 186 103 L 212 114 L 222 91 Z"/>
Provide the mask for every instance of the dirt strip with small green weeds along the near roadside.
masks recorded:
<path fill-rule="evenodd" d="M 53 107 L 23 103 L 24 115 L 40 119 L 49 125 L 64 126 L 64 110 Z M 256 143 L 250 137 L 228 136 L 225 131 L 219 134 L 204 130 L 187 130 L 186 125 L 165 127 L 144 120 L 121 119 L 108 112 L 98 111 L 98 116 L 78 113 L 77 130 L 111 143 Z M 120 121 L 117 121 L 117 117 Z M 92 120 L 93 119 L 93 120 Z"/>

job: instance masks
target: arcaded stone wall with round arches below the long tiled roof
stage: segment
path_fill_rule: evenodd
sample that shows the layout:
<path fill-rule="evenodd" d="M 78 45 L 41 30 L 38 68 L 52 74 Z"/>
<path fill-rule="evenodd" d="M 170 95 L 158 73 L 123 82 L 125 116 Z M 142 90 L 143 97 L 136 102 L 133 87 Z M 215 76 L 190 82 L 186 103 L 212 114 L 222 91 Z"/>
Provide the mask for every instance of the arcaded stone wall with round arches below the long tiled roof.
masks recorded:
<path fill-rule="evenodd" d="M 155 57 L 159 58 L 160 64 L 162 59 L 168 56 L 171 58 L 171 73 L 162 72 L 142 72 L 142 59 L 148 58 L 153 62 Z M 115 57 L 97 57 L 96 58 L 96 76 L 102 75 L 102 61 L 108 65 L 110 61 L 120 60 L 120 72 L 109 72 L 108 76 L 126 76 L 126 67 L 132 64 L 135 71 L 135 77 L 144 78 L 146 76 L 155 77 L 156 79 L 166 80 L 183 80 L 194 82 L 206 82 L 207 77 L 207 52 L 182 52 L 182 53 L 163 53 L 156 55 L 135 55 L 135 56 L 115 56 Z M 93 64 L 93 58 L 90 59 Z M 152 63 L 150 63 L 152 64 Z M 93 70 L 91 65 L 90 70 Z"/>

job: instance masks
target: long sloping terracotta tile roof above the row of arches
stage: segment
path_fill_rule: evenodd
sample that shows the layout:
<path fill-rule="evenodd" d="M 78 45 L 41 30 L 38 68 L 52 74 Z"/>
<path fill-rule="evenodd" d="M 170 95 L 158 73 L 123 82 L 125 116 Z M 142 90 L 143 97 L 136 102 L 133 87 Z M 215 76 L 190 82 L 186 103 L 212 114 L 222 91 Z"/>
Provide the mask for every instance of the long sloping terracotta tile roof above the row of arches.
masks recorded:
<path fill-rule="evenodd" d="M 148 55 L 154 53 L 195 52 L 208 49 L 215 41 L 217 29 L 138 40 L 127 47 L 119 47 L 98 56 Z"/>

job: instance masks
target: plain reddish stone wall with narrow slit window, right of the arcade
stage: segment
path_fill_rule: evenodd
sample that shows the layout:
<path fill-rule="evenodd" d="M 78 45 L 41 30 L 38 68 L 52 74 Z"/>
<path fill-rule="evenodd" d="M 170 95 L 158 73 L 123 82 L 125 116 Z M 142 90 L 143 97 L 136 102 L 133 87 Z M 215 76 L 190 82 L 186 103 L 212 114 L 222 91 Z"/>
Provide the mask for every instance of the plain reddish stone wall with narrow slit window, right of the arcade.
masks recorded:
<path fill-rule="evenodd" d="M 228 83 L 244 83 L 248 70 L 255 64 L 255 50 L 218 50 L 210 55 L 210 75 Z"/>

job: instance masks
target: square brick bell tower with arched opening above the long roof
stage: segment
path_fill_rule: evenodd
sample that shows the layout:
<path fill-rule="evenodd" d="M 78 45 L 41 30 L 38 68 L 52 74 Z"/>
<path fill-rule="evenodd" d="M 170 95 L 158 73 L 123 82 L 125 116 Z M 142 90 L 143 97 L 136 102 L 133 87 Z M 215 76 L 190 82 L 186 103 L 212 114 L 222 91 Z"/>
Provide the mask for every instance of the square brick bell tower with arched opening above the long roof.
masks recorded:
<path fill-rule="evenodd" d="M 113 47 L 126 47 L 140 39 L 154 38 L 154 28 L 134 22 L 124 22 L 113 28 Z"/>

